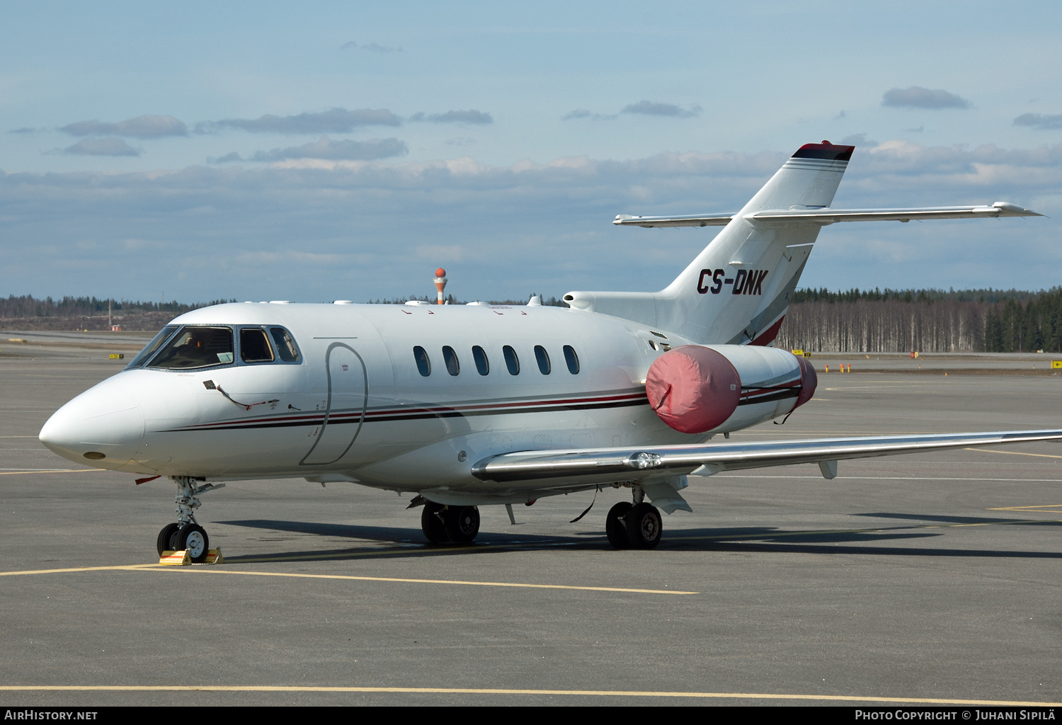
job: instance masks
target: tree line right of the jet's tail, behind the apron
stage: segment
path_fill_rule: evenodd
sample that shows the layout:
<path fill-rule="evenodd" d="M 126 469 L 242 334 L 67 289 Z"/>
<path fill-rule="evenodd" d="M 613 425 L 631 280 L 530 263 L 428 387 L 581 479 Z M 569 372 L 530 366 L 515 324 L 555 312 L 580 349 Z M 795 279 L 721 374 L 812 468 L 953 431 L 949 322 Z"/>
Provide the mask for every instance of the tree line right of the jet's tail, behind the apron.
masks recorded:
<path fill-rule="evenodd" d="M 775 346 L 838 352 L 1060 352 L 1062 288 L 798 290 Z"/>

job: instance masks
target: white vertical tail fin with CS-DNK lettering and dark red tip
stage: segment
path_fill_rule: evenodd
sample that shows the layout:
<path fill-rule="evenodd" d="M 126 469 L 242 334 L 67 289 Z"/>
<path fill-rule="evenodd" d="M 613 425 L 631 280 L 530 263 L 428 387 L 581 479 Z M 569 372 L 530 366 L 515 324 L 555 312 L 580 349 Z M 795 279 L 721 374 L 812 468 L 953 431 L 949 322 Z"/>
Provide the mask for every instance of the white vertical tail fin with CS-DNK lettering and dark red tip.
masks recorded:
<path fill-rule="evenodd" d="M 801 146 L 661 292 L 569 292 L 565 300 L 702 344 L 770 344 L 821 225 L 748 215 L 829 206 L 854 149 L 827 141 Z"/>

